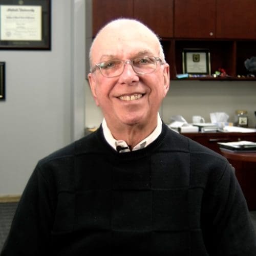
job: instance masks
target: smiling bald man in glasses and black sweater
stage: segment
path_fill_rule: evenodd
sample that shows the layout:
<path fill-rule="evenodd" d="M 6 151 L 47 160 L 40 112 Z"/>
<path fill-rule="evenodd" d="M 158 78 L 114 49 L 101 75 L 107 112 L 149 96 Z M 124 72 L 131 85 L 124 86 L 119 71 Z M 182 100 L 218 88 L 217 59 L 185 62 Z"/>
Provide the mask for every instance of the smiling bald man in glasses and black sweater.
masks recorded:
<path fill-rule="evenodd" d="M 90 59 L 102 125 L 38 162 L 1 255 L 256 255 L 230 164 L 158 115 L 169 66 L 157 36 L 114 20 Z"/>

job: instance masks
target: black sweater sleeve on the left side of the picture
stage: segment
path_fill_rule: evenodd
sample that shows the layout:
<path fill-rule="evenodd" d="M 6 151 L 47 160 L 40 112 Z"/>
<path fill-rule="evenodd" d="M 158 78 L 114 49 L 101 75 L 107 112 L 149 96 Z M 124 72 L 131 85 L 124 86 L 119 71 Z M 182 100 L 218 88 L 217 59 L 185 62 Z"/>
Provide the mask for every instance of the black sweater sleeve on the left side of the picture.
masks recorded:
<path fill-rule="evenodd" d="M 1 256 L 50 255 L 53 199 L 37 165 L 18 203 Z"/>

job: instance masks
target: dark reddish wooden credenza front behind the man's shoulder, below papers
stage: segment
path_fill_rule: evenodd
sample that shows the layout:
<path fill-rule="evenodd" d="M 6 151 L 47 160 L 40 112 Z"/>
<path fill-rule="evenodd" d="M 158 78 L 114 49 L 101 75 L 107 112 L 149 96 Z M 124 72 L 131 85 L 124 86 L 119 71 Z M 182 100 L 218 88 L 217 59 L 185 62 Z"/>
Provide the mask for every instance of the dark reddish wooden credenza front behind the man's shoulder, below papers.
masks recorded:
<path fill-rule="evenodd" d="M 220 153 L 218 142 L 249 140 L 256 142 L 256 133 L 183 133 L 184 136 Z"/>

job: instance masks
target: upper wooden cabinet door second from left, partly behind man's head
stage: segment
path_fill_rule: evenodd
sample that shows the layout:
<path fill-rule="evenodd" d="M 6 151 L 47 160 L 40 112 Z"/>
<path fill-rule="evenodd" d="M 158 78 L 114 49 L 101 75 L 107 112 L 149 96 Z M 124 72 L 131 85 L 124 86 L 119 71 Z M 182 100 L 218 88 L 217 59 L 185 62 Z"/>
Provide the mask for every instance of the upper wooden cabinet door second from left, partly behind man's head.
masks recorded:
<path fill-rule="evenodd" d="M 160 37 L 173 37 L 174 0 L 134 0 L 134 17 Z"/>

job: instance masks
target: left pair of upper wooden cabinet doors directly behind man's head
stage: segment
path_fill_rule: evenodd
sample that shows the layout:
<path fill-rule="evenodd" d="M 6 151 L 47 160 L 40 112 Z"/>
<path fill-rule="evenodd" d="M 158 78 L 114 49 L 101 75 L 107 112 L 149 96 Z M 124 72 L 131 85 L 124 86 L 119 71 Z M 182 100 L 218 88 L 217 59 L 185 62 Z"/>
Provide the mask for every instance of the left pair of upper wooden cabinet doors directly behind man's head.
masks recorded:
<path fill-rule="evenodd" d="M 115 18 L 136 18 L 161 37 L 173 37 L 174 0 L 93 0 L 93 36 Z"/>

